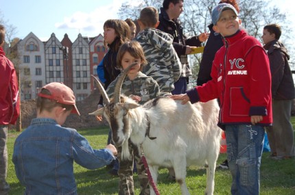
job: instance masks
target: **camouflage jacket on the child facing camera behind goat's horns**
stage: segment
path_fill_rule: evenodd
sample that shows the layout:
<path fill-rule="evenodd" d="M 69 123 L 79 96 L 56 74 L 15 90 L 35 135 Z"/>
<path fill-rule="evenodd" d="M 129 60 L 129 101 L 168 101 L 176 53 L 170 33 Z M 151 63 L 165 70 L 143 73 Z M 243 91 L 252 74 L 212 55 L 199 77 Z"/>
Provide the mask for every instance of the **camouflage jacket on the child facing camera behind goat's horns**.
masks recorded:
<path fill-rule="evenodd" d="M 120 75 L 119 75 L 120 76 Z M 110 98 L 113 97 L 115 86 L 119 76 L 110 83 L 106 93 Z M 152 77 L 147 77 L 147 75 L 139 72 L 134 80 L 130 80 L 128 76 L 125 78 L 122 84 L 121 93 L 126 96 L 136 95 L 141 97 L 139 104 L 144 104 L 150 99 L 154 99 L 160 95 L 160 88 L 158 83 Z"/>

